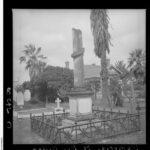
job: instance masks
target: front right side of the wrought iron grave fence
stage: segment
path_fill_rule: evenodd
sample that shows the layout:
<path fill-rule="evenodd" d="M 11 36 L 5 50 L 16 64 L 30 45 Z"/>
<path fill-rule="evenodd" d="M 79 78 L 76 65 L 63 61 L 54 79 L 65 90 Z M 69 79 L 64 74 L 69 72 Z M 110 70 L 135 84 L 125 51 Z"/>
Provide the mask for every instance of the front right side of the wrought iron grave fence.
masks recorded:
<path fill-rule="evenodd" d="M 137 115 L 92 121 L 86 124 L 75 124 L 74 126 L 61 127 L 58 129 L 59 138 L 56 143 L 77 144 L 86 143 L 92 139 L 104 139 L 120 134 L 127 134 L 140 130 Z"/>

